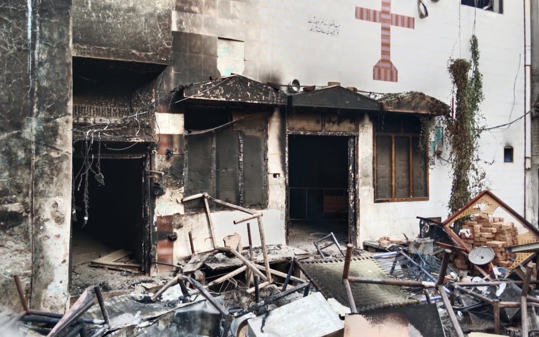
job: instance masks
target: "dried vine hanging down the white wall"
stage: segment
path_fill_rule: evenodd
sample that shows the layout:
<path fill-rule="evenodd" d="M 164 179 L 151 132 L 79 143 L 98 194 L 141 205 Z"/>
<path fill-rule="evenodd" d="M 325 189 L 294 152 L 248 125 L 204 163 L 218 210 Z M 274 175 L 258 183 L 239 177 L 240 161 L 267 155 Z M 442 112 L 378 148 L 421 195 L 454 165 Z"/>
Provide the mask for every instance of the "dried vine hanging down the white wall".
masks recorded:
<path fill-rule="evenodd" d="M 479 72 L 479 48 L 475 35 L 470 40 L 472 59 L 451 60 L 448 71 L 455 88 L 454 118 L 446 116 L 446 135 L 451 145 L 453 183 L 448 203 L 450 213 L 471 200 L 472 192 L 482 187 L 485 173 L 477 163 L 480 104 L 483 100 L 482 75 Z M 470 75 L 471 74 L 471 75 Z"/>

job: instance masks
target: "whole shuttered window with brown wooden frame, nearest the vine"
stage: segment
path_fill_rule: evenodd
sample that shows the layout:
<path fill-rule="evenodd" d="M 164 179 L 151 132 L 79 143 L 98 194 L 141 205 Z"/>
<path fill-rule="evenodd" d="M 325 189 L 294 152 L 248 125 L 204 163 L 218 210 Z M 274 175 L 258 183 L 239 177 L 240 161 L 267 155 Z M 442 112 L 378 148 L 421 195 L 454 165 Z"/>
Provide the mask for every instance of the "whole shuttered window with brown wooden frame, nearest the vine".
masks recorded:
<path fill-rule="evenodd" d="M 421 123 L 413 116 L 383 116 L 375 126 L 375 201 L 427 200 L 425 147 Z"/>

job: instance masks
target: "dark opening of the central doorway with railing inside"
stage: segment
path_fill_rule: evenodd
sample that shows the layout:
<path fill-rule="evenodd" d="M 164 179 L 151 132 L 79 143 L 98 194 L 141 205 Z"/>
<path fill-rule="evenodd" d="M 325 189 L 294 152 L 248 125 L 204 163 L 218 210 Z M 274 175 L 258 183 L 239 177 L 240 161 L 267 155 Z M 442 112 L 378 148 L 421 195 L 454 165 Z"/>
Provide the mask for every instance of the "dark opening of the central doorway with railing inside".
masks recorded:
<path fill-rule="evenodd" d="M 347 136 L 288 136 L 289 233 L 348 239 L 349 143 Z"/>

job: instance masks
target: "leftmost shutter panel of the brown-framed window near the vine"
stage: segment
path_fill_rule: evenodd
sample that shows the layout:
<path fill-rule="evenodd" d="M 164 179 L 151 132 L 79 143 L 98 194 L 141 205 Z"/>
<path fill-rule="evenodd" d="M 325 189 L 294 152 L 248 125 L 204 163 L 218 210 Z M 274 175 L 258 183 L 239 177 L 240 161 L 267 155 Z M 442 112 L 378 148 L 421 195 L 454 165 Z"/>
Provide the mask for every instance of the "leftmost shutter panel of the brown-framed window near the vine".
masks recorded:
<path fill-rule="evenodd" d="M 391 195 L 391 137 L 376 137 L 376 198 L 389 199 Z"/>

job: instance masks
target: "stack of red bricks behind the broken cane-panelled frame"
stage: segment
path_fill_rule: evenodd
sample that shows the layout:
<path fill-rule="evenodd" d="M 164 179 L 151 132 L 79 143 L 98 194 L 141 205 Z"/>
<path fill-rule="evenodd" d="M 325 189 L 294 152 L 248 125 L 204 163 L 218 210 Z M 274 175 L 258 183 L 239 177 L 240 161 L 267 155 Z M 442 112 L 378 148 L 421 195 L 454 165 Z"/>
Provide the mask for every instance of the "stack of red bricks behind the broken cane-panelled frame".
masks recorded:
<path fill-rule="evenodd" d="M 472 221 L 465 221 L 462 225 L 465 231 L 460 233 L 460 237 L 468 244 L 470 249 L 476 246 L 488 246 L 494 251 L 495 257 L 492 260 L 494 265 L 500 267 L 510 267 L 513 262 L 510 258 L 514 254 L 506 253 L 505 247 L 518 244 L 518 229 L 512 222 L 503 222 L 503 218 L 489 217 L 488 214 L 479 214 L 473 217 Z M 455 266 L 460 269 L 468 269 L 465 257 L 455 259 Z"/>

